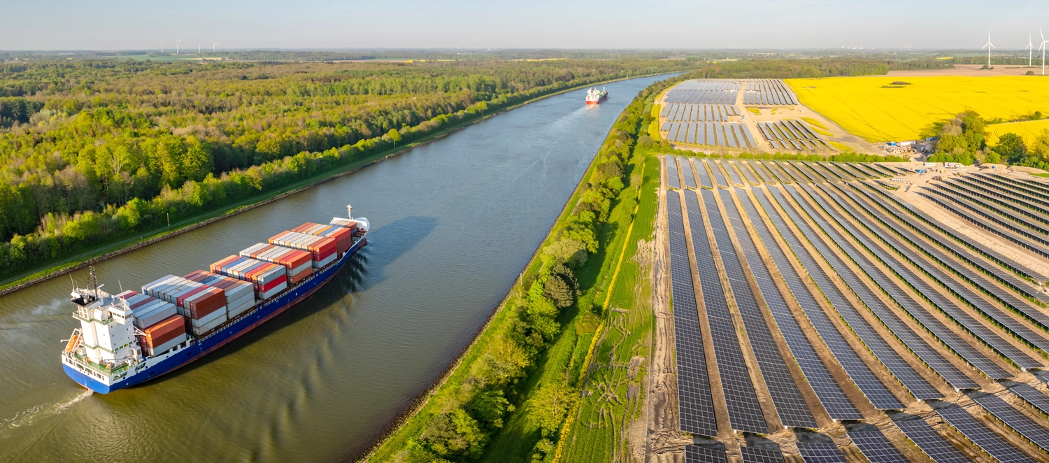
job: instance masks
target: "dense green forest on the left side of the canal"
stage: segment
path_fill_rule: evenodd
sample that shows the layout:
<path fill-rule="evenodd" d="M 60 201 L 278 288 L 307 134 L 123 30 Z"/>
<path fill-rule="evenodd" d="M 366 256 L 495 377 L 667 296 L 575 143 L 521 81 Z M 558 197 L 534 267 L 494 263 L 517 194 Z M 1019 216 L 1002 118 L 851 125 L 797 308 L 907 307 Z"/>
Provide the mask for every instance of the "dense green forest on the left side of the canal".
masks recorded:
<path fill-rule="evenodd" d="M 0 64 L 0 274 L 683 60 Z"/>

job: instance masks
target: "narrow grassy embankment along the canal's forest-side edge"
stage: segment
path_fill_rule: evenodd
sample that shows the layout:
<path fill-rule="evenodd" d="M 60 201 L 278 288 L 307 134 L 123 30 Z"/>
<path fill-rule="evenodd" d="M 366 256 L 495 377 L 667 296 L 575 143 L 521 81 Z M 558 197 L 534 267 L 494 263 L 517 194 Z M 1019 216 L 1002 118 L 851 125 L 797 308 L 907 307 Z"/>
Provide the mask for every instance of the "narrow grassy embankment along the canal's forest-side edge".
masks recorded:
<path fill-rule="evenodd" d="M 636 79 L 638 77 L 644 77 L 644 76 L 635 76 L 625 79 Z M 599 82 L 597 84 L 617 82 L 625 79 L 614 79 L 605 82 Z M 14 275 L 0 280 L 0 295 L 6 294 L 7 292 L 15 291 L 25 286 L 46 280 L 53 276 L 68 273 L 69 271 L 76 270 L 85 265 L 93 264 L 95 261 L 119 255 L 123 252 L 136 249 L 137 247 L 141 247 L 145 244 L 154 243 L 159 239 L 174 236 L 176 234 L 197 228 L 201 225 L 206 225 L 208 223 L 228 217 L 238 212 L 242 212 L 252 209 L 254 207 L 270 203 L 272 201 L 287 196 L 290 194 L 294 194 L 296 192 L 302 191 L 313 186 L 320 185 L 326 181 L 362 169 L 370 164 L 382 161 L 391 155 L 400 154 L 415 146 L 429 143 L 433 140 L 447 135 L 448 133 L 463 129 L 464 127 L 484 121 L 488 118 L 494 117 L 504 111 L 508 111 L 523 106 L 526 104 L 532 103 L 534 101 L 542 100 L 544 98 L 554 97 L 568 91 L 573 91 L 582 87 L 597 85 L 597 84 L 587 83 L 586 85 L 580 85 L 577 87 L 566 88 L 554 93 L 543 94 L 535 99 L 521 102 L 517 105 L 508 106 L 500 110 L 493 111 L 492 113 L 487 114 L 483 118 L 464 121 L 459 124 L 449 126 L 444 130 L 436 131 L 426 138 L 420 139 L 404 146 L 399 146 L 395 149 L 380 151 L 371 155 L 354 160 L 352 162 L 344 166 L 340 166 L 337 169 L 319 172 L 314 176 L 303 178 L 299 182 L 295 182 L 293 184 L 286 185 L 276 190 L 260 193 L 258 195 L 244 198 L 234 204 L 223 205 L 222 207 L 219 208 L 215 208 L 190 217 L 178 219 L 176 222 L 173 222 L 170 226 L 167 225 L 158 226 L 150 230 L 145 230 L 142 233 L 136 234 L 134 236 L 122 236 L 120 238 L 114 238 L 112 240 L 104 241 L 97 246 L 84 249 L 82 252 L 76 255 L 42 262 L 18 275 Z"/>

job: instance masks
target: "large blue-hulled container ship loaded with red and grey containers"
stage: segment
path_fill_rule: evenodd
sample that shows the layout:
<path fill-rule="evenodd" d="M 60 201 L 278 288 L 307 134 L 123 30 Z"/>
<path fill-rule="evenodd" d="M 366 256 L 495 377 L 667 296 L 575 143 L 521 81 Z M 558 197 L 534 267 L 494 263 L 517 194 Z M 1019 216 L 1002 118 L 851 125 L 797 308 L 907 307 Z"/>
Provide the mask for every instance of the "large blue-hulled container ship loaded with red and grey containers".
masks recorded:
<path fill-rule="evenodd" d="M 97 393 L 173 372 L 248 333 L 320 289 L 367 244 L 368 219 L 335 217 L 280 232 L 208 271 L 166 275 L 141 292 L 110 294 L 91 269 L 90 289 L 74 288 L 80 328 L 62 367 Z"/>

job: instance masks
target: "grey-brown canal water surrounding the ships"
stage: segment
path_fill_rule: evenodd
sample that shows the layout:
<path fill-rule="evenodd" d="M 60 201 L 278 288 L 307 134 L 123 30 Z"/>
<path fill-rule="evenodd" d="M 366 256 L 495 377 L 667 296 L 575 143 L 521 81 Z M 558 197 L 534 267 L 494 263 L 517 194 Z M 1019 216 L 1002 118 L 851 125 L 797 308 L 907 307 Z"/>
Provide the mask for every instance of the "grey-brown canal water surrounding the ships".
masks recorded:
<path fill-rule="evenodd" d="M 339 461 L 366 450 L 495 310 L 616 117 L 660 78 L 541 100 L 97 266 L 116 293 L 354 205 L 368 246 L 309 299 L 173 374 L 89 394 L 59 353 L 68 276 L 0 297 L 0 461 Z M 73 277 L 86 286 L 87 272 Z"/>

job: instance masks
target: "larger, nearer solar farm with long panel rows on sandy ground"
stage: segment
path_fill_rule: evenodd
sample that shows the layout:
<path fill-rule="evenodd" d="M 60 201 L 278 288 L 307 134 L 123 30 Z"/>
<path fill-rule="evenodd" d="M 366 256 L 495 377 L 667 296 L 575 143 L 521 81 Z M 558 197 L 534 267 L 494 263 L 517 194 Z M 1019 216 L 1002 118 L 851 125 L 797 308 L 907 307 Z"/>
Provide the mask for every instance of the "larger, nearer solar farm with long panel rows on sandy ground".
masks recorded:
<path fill-rule="evenodd" d="M 1049 462 L 1049 183 L 661 159 L 686 463 Z"/>

